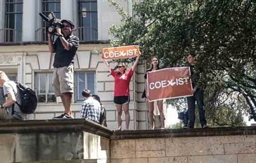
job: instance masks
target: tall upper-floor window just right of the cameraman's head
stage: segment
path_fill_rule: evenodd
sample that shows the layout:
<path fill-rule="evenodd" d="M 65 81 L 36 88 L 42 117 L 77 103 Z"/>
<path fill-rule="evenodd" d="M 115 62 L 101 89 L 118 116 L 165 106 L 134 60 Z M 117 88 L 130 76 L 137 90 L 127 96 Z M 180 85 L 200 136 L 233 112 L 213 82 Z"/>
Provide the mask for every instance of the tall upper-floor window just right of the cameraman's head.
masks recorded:
<path fill-rule="evenodd" d="M 78 0 L 78 33 L 81 41 L 98 40 L 97 0 Z"/>

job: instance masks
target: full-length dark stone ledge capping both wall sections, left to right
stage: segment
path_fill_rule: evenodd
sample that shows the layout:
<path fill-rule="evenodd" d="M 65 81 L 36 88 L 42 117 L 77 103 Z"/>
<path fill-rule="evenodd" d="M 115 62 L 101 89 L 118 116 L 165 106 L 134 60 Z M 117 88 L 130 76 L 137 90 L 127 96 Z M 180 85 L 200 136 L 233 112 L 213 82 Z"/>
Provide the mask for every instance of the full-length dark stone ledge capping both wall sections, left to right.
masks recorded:
<path fill-rule="evenodd" d="M 111 131 L 85 119 L 0 121 L 0 134 L 89 132 L 111 140 L 195 136 L 256 135 L 256 126 L 165 130 Z"/>

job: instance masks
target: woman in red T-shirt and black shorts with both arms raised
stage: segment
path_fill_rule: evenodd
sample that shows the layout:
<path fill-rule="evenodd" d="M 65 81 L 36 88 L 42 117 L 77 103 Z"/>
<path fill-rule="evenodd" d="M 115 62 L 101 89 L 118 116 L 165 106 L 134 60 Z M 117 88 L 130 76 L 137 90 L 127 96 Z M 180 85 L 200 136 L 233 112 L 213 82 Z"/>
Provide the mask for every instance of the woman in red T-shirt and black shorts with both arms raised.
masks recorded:
<path fill-rule="evenodd" d="M 105 61 L 106 65 L 109 68 L 111 75 L 114 77 L 114 104 L 117 108 L 117 121 L 118 121 L 118 130 L 122 128 L 122 109 L 125 111 L 125 121 L 126 121 L 126 130 L 129 130 L 130 123 L 130 113 L 129 113 L 129 102 L 130 102 L 130 90 L 129 84 L 135 67 L 139 62 L 139 55 L 136 58 L 133 66 L 130 70 L 127 70 L 125 63 L 119 63 L 117 70 L 115 71 L 111 68 L 108 62 Z"/>

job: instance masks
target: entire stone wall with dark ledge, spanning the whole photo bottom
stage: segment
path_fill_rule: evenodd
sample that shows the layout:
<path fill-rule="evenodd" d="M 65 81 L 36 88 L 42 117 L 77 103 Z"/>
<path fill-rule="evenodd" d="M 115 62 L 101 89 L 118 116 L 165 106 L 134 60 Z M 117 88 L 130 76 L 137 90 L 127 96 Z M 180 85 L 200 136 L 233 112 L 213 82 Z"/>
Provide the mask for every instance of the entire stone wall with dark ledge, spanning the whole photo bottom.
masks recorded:
<path fill-rule="evenodd" d="M 0 123 L 3 163 L 255 163 L 255 154 L 255 126 L 110 131 L 84 119 Z"/>

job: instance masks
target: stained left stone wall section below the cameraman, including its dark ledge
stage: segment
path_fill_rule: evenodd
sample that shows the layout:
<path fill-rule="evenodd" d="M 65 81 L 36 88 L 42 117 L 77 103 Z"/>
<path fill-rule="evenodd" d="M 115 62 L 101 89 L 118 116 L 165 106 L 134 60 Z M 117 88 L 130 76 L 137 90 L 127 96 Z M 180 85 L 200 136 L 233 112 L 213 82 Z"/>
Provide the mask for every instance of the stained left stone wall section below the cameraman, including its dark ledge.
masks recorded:
<path fill-rule="evenodd" d="M 2 122 L 0 132 L 2 163 L 110 161 L 112 132 L 84 119 Z"/>

